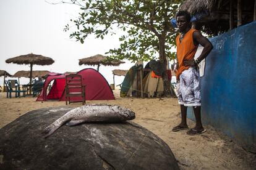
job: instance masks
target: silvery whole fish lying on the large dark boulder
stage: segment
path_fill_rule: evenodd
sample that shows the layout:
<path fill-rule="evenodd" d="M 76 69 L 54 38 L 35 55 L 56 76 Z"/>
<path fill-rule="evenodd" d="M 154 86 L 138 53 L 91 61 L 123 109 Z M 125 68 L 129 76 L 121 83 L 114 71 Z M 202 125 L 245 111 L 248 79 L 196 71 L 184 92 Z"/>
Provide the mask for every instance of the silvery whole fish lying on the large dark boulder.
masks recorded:
<path fill-rule="evenodd" d="M 119 105 L 90 104 L 67 111 L 61 118 L 56 119 L 45 127 L 45 138 L 53 134 L 63 124 L 74 126 L 85 122 L 122 123 L 135 119 L 134 111 Z"/>

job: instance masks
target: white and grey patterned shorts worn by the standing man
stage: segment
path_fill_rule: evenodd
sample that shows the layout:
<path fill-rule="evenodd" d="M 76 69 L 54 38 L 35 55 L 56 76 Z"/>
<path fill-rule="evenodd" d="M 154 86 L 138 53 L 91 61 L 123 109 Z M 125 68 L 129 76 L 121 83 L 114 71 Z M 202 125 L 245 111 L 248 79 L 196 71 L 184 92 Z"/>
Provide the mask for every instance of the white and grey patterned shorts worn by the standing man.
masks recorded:
<path fill-rule="evenodd" d="M 184 70 L 177 82 L 178 103 L 187 107 L 200 106 L 200 75 L 199 70 L 190 67 Z"/>

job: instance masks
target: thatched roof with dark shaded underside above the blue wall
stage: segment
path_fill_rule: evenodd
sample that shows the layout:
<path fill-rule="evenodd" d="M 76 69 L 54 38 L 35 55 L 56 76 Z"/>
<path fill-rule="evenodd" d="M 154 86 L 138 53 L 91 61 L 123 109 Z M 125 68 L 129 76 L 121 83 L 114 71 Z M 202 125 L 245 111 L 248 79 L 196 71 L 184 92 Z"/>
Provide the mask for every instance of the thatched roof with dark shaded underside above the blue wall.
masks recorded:
<path fill-rule="evenodd" d="M 217 35 L 229 30 L 230 1 L 233 1 L 234 27 L 237 26 L 237 0 L 187 0 L 180 10 L 198 18 L 196 29 Z M 252 22 L 254 1 L 242 0 L 242 24 Z"/>

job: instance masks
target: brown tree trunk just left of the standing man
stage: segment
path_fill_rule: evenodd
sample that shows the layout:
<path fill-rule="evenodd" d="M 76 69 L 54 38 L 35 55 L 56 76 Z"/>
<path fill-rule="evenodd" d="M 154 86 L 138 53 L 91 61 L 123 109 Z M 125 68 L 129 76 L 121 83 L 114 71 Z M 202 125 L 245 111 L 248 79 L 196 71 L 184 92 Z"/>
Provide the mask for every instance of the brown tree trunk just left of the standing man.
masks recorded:
<path fill-rule="evenodd" d="M 171 84 L 168 80 L 168 76 L 166 73 L 166 66 L 167 66 L 167 60 L 166 60 L 166 54 L 165 54 L 165 39 L 163 37 L 159 38 L 159 59 L 160 62 L 163 63 L 164 66 L 164 72 L 163 72 L 163 84 L 164 84 L 164 96 L 166 97 L 172 97 L 171 95 Z"/>

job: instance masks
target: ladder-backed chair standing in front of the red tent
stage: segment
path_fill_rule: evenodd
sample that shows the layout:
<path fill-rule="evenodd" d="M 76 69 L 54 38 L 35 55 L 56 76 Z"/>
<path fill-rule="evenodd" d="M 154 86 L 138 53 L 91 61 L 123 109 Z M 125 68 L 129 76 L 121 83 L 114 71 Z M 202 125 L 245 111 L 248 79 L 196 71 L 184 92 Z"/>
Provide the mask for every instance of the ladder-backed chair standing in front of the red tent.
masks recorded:
<path fill-rule="evenodd" d="M 77 74 L 66 75 L 66 105 L 67 101 L 82 102 L 85 105 L 85 85 L 82 84 L 82 76 Z M 82 97 L 82 100 L 71 100 L 72 97 Z"/>

